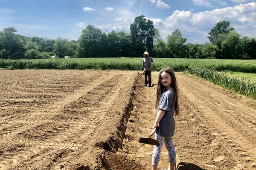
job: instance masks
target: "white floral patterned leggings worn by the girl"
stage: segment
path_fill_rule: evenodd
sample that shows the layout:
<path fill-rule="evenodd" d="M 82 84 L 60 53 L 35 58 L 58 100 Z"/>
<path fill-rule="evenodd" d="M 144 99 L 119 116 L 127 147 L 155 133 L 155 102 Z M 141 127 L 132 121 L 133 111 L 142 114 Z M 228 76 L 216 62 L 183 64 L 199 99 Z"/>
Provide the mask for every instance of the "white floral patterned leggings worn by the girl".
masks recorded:
<path fill-rule="evenodd" d="M 154 146 L 153 155 L 152 155 L 152 165 L 154 166 L 158 165 L 163 142 L 165 143 L 166 149 L 168 150 L 168 153 L 169 153 L 169 162 L 175 162 L 176 151 L 172 142 L 172 136 L 160 136 L 156 134 L 155 139 L 159 141 L 160 146 L 156 146 L 156 145 Z"/>

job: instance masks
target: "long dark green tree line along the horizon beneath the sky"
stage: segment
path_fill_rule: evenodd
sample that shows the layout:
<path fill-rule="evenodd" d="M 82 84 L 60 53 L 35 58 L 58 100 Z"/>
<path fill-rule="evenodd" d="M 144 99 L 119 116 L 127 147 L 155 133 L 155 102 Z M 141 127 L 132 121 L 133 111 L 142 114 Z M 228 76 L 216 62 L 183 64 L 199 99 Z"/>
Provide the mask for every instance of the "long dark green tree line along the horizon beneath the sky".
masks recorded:
<path fill-rule="evenodd" d="M 16 34 L 14 27 L 0 31 L 0 59 L 47 59 L 85 57 L 142 57 L 148 51 L 159 58 L 256 59 L 256 38 L 241 36 L 220 21 L 209 31 L 209 43 L 192 44 L 177 28 L 164 41 L 151 20 L 141 15 L 130 25 L 130 34 L 87 26 L 77 41 L 61 37 L 55 40 Z"/>

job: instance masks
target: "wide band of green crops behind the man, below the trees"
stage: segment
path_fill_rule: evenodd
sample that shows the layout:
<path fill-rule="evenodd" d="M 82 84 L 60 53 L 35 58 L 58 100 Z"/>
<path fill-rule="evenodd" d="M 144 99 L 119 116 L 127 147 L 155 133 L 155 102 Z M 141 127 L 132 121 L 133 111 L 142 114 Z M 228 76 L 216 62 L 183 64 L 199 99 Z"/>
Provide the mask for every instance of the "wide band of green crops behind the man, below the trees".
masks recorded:
<path fill-rule="evenodd" d="M 166 59 L 155 58 L 153 71 L 165 66 L 175 71 L 186 71 L 189 67 L 207 68 L 214 71 L 237 71 L 256 73 L 256 60 L 224 59 Z M 142 58 L 70 58 L 70 59 L 0 59 L 3 69 L 97 69 L 97 70 L 143 70 Z"/>

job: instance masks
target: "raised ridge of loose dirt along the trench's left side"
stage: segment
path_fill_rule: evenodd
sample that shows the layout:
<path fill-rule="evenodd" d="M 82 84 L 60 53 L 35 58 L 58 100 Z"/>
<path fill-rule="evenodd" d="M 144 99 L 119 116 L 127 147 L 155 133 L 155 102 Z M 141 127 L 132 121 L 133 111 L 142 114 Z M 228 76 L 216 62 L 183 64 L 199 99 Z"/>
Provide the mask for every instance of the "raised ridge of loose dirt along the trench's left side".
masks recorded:
<path fill-rule="evenodd" d="M 135 81 L 120 90 L 121 95 L 118 95 L 104 119 L 94 129 L 90 142 L 80 147 L 79 151 L 73 155 L 77 161 L 69 164 L 67 169 L 112 169 L 111 164 L 106 160 L 106 152 L 116 153 L 119 148 L 122 148 L 126 123 L 133 108 L 134 88 Z M 108 155 L 114 157 L 111 153 Z"/>

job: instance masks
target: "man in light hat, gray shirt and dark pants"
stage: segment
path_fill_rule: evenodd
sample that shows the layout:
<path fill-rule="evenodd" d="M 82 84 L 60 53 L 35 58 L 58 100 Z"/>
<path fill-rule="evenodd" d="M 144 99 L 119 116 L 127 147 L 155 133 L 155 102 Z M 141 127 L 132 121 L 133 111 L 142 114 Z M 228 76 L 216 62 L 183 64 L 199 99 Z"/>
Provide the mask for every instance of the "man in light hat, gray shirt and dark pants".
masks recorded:
<path fill-rule="evenodd" d="M 154 59 L 149 57 L 148 51 L 144 52 L 144 58 L 142 59 L 142 66 L 144 68 L 144 76 L 145 76 L 145 86 L 151 87 L 151 62 L 153 62 L 154 65 Z"/>

